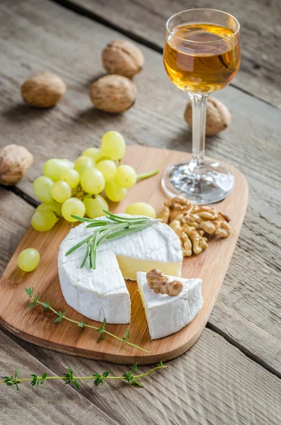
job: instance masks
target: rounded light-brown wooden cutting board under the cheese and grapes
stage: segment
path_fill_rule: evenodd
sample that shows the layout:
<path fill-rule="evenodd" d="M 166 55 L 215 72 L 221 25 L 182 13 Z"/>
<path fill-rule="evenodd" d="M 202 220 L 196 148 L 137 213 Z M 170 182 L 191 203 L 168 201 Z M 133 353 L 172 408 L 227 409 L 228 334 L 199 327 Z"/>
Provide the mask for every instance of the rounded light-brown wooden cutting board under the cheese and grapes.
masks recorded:
<path fill-rule="evenodd" d="M 166 153 L 165 153 L 166 152 Z M 129 146 L 125 157 L 125 164 L 130 164 L 139 173 L 152 170 L 161 164 L 161 172 L 144 181 L 137 183 L 130 190 L 128 196 L 120 204 L 111 204 L 113 212 L 124 212 L 128 204 L 143 201 L 154 205 L 159 213 L 166 197 L 161 191 L 161 175 L 166 166 L 190 158 L 185 152 L 164 151 L 151 147 Z M 185 278 L 202 278 L 203 307 L 193 322 L 176 334 L 166 338 L 151 341 L 144 316 L 142 302 L 137 291 L 137 283 L 127 281 L 132 302 L 132 321 L 130 324 L 108 324 L 106 329 L 121 338 L 125 336 L 125 329 L 130 331 L 130 341 L 150 351 L 144 353 L 137 348 L 121 344 L 110 336 L 103 336 L 97 343 L 98 333 L 92 329 L 79 329 L 75 324 L 63 320 L 54 323 L 54 314 L 44 312 L 42 307 L 28 308 L 30 298 L 25 293 L 25 288 L 34 287 L 36 293 L 40 292 L 40 300 L 50 302 L 56 310 L 65 309 L 67 317 L 101 326 L 81 316 L 64 301 L 57 274 L 57 254 L 59 244 L 69 232 L 69 224 L 59 220 L 50 232 L 39 233 L 32 227 L 28 229 L 25 237 L 19 244 L 11 261 L 0 281 L 0 323 L 1 325 L 25 341 L 55 351 L 83 356 L 98 360 L 112 361 L 114 363 L 139 364 L 157 363 L 171 360 L 190 348 L 200 336 L 207 319 L 212 312 L 217 300 L 226 270 L 229 266 L 239 232 L 243 223 L 248 203 L 248 185 L 240 171 L 233 166 L 226 166 L 235 177 L 234 191 L 217 208 L 231 217 L 232 234 L 227 239 L 214 238 L 210 240 L 209 247 L 199 256 L 185 258 L 183 261 L 182 276 Z M 40 252 L 40 264 L 31 273 L 24 273 L 17 266 L 18 254 L 25 249 L 33 247 Z M 167 317 L 168 320 L 168 317 Z"/>

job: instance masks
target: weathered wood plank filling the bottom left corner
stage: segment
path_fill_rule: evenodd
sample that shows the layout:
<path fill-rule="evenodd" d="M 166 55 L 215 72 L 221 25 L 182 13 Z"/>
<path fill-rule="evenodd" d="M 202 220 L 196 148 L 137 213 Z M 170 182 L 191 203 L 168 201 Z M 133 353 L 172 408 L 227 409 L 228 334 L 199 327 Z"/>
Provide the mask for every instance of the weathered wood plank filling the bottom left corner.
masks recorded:
<path fill-rule="evenodd" d="M 21 346 L 0 331 L 0 375 L 14 375 L 18 368 L 20 378 L 30 378 L 30 373 L 38 375 L 47 372 L 54 375 L 50 368 L 40 363 Z M 102 409 L 90 402 L 61 380 L 45 382 L 43 387 L 31 387 L 30 384 L 16 387 L 0 385 L 1 413 L 0 422 L 5 425 L 37 424 L 101 424 L 116 425 Z M 93 422 L 93 420 L 95 422 Z"/>

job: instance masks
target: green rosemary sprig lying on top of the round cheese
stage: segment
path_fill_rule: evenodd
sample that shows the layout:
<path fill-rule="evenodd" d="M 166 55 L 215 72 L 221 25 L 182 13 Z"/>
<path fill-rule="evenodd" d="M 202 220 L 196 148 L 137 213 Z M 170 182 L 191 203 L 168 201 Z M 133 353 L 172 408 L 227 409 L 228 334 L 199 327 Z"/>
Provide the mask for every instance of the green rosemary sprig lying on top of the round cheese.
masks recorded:
<path fill-rule="evenodd" d="M 147 227 L 161 221 L 149 217 L 120 217 L 120 215 L 112 214 L 106 210 L 103 210 L 103 212 L 105 212 L 105 217 L 108 220 L 97 220 L 95 218 L 91 219 L 80 217 L 79 215 L 71 215 L 71 217 L 80 222 L 88 222 L 89 224 L 86 228 L 98 227 L 93 231 L 93 234 L 72 246 L 72 248 L 67 251 L 67 254 L 65 254 L 69 255 L 76 251 L 76 249 L 79 249 L 80 246 L 86 244 L 86 253 L 81 263 L 81 268 L 85 266 L 87 259 L 89 259 L 90 268 L 96 268 L 96 253 L 98 245 L 106 239 L 113 239 L 125 236 L 125 234 L 130 234 L 132 232 L 139 232 L 140 230 L 147 229 Z"/>

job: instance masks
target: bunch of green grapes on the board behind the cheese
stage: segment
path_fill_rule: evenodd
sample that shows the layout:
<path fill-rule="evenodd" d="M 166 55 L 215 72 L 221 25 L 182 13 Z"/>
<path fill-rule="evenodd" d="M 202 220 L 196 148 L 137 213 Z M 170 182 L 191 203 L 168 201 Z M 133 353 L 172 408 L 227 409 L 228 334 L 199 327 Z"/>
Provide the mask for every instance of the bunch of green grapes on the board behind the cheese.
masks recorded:
<path fill-rule="evenodd" d="M 35 196 L 42 201 L 31 219 L 33 228 L 47 232 L 59 217 L 75 222 L 72 215 L 90 218 L 104 215 L 108 203 L 101 196 L 103 191 L 114 202 L 125 198 L 127 189 L 138 179 L 132 166 L 121 164 L 125 149 L 124 137 L 117 131 L 109 131 L 103 135 L 101 149 L 89 147 L 74 163 L 68 159 L 48 159 L 42 168 L 43 175 L 33 182 Z M 151 217 L 154 215 L 151 208 L 135 204 L 132 212 Z"/>

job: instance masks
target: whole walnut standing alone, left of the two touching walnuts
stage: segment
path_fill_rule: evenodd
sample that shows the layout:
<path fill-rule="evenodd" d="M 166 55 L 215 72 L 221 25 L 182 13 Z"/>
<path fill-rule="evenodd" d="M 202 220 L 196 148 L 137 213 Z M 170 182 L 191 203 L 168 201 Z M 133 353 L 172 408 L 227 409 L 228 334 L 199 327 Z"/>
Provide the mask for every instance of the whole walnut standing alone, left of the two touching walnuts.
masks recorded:
<path fill-rule="evenodd" d="M 21 96 L 30 106 L 50 108 L 62 98 L 67 86 L 61 78 L 50 72 L 34 75 L 21 86 Z"/>

